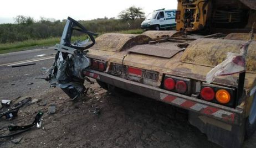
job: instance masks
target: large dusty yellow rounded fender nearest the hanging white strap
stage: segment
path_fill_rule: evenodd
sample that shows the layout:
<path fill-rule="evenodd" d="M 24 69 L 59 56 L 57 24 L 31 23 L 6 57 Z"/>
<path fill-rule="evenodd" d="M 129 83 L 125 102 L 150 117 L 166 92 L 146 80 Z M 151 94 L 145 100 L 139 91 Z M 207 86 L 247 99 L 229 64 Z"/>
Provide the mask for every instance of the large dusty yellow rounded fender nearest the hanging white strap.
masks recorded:
<path fill-rule="evenodd" d="M 244 41 L 198 39 L 193 41 L 185 50 L 181 61 L 185 63 L 215 67 L 224 61 L 227 52 L 240 53 L 240 47 Z M 256 72 L 256 42 L 253 41 L 248 47 L 247 71 Z"/>

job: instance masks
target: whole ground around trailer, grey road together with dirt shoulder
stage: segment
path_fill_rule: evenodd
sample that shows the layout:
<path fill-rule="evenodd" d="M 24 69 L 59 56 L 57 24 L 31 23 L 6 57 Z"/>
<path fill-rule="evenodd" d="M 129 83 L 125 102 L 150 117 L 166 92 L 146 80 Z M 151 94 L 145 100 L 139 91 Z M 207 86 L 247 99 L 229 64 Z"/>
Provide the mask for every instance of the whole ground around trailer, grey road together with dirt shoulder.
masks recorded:
<path fill-rule="evenodd" d="M 0 55 L 0 99 L 30 96 L 48 101 L 45 106 L 38 103 L 22 109 L 12 120 L 24 125 L 37 110 L 43 110 L 44 129 L 22 134 L 17 145 L 10 139 L 0 140 L 0 147 L 219 147 L 190 125 L 187 115 L 177 108 L 136 94 L 112 96 L 98 84 L 86 83 L 88 96 L 71 103 L 59 88 L 35 79 L 47 76 L 55 53 L 50 47 Z M 12 67 L 21 64 L 35 65 Z M 46 114 L 50 103 L 57 105 L 54 115 Z M 100 115 L 91 112 L 94 107 L 100 108 Z M 8 124 L 2 119 L 0 129 Z M 256 135 L 243 147 L 256 147 Z"/>

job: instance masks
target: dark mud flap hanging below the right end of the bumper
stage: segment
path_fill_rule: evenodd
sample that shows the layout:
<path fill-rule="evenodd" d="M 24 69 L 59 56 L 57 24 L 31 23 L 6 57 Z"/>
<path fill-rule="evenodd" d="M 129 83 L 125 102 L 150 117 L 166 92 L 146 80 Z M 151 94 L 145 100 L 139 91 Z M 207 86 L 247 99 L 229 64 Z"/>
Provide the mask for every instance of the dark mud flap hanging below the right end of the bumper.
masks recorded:
<path fill-rule="evenodd" d="M 244 141 L 244 120 L 240 125 L 228 124 L 202 114 L 189 112 L 188 121 L 202 133 L 222 147 L 242 147 Z"/>

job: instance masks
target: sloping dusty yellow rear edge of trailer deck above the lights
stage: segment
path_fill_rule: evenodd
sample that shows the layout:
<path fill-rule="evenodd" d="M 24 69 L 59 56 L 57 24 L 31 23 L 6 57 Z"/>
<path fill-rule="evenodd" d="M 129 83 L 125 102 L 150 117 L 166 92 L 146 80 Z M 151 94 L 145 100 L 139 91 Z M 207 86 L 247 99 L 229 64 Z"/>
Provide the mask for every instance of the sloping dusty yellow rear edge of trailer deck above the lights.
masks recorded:
<path fill-rule="evenodd" d="M 165 44 L 165 43 L 161 43 Z M 160 44 L 160 45 L 161 45 Z M 108 62 L 122 64 L 122 59 L 124 55 L 129 51 L 122 52 L 112 52 L 112 51 L 103 51 L 103 50 L 94 50 L 90 49 L 88 52 L 88 57 L 95 59 L 102 59 Z M 181 62 L 181 56 L 183 51 L 178 52 L 175 56 L 170 59 L 149 56 L 144 54 L 136 54 L 130 52 L 125 59 L 124 65 L 129 65 L 133 67 L 143 68 L 145 70 L 157 71 L 160 73 L 166 73 L 168 75 L 192 78 L 198 81 L 205 81 L 206 75 L 209 71 L 212 70 L 212 67 L 195 65 Z M 213 83 L 214 84 L 224 84 L 226 86 L 237 86 L 238 75 L 232 76 L 222 76 L 217 77 Z M 245 75 L 245 89 L 250 89 L 254 86 L 254 81 L 256 80 L 256 75 L 253 72 L 246 73 Z"/>

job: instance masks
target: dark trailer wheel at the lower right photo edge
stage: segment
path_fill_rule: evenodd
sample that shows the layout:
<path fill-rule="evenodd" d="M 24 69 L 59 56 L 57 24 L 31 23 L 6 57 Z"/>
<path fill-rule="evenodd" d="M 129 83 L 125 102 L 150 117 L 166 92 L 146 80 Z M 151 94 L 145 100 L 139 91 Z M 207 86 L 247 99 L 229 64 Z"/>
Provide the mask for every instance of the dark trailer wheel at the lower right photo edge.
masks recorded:
<path fill-rule="evenodd" d="M 250 138 L 256 130 L 256 93 L 254 94 L 253 104 L 245 125 L 245 139 Z"/>

